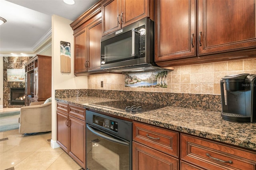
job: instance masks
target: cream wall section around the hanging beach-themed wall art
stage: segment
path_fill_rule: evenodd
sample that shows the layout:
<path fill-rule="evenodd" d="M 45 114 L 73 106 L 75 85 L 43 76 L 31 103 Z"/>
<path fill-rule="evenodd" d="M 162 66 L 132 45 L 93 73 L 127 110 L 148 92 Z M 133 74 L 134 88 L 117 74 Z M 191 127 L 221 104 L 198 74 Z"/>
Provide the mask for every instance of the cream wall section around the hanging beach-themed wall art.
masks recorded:
<path fill-rule="evenodd" d="M 87 89 L 87 76 L 74 75 L 74 36 L 70 27 L 72 21 L 57 15 L 52 16 L 52 148 L 58 147 L 56 126 L 56 89 Z M 71 73 L 60 72 L 60 41 L 70 42 Z"/>

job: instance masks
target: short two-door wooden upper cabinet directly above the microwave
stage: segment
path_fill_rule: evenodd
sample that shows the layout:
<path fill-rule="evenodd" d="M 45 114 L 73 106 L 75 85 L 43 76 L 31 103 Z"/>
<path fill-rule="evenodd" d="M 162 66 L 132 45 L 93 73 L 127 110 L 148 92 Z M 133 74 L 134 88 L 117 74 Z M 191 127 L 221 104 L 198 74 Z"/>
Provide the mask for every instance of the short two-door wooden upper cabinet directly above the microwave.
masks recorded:
<path fill-rule="evenodd" d="M 142 18 L 154 20 L 152 0 L 106 0 L 102 3 L 102 35 L 105 36 Z"/>

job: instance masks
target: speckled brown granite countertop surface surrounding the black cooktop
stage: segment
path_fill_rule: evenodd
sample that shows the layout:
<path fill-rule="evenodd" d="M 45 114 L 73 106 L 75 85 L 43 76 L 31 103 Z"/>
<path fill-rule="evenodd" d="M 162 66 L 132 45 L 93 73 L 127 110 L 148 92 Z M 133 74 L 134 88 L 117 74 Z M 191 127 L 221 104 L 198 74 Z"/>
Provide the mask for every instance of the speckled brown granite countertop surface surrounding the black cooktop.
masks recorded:
<path fill-rule="evenodd" d="M 57 101 L 102 111 L 135 121 L 256 150 L 256 123 L 235 123 L 222 119 L 220 112 L 166 106 L 144 113 L 126 113 L 97 107 L 94 103 L 114 101 L 98 97 L 66 97 Z"/>

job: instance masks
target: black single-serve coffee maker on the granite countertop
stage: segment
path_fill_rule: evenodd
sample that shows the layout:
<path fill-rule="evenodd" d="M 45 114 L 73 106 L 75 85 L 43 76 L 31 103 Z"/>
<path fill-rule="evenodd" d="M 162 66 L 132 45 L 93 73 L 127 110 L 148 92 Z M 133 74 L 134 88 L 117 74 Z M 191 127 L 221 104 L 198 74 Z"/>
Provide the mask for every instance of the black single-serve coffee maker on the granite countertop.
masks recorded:
<path fill-rule="evenodd" d="M 256 74 L 226 75 L 220 80 L 222 119 L 256 122 Z"/>

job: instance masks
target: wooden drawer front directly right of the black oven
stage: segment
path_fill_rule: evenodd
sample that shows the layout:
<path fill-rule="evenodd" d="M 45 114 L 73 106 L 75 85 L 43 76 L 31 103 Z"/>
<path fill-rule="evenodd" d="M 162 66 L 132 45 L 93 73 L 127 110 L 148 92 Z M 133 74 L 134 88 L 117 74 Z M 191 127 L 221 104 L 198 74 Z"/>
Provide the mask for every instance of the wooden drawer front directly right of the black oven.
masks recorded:
<path fill-rule="evenodd" d="M 154 127 L 143 123 L 133 122 L 132 138 L 166 154 L 179 157 L 179 133 Z"/>

